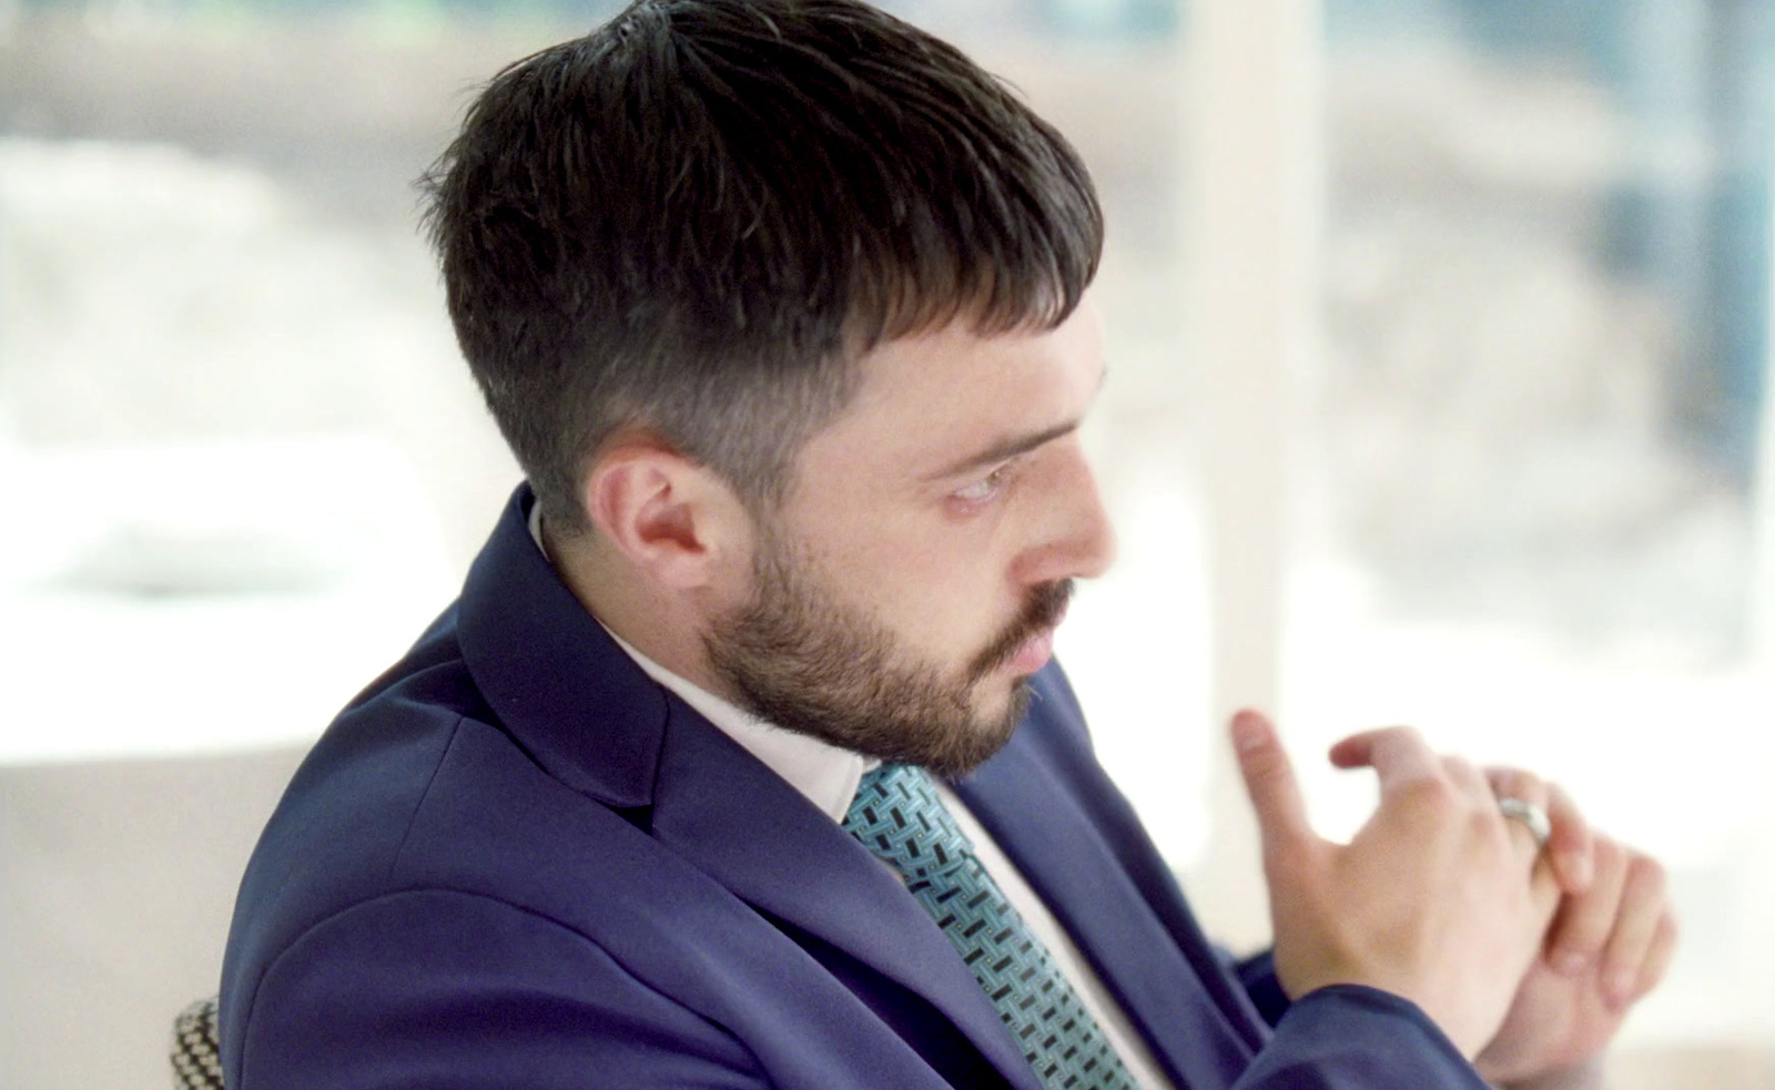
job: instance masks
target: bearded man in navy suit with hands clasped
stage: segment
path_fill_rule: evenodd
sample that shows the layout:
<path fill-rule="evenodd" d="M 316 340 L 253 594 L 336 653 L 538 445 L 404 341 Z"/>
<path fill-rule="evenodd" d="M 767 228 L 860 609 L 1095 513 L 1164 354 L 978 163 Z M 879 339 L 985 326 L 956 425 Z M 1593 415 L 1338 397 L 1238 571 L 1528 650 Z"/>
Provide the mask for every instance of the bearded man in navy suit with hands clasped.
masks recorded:
<path fill-rule="evenodd" d="M 854 0 L 641 0 L 431 194 L 529 486 L 259 843 L 231 1086 L 1594 1074 L 1672 925 L 1553 788 L 1360 735 L 1329 845 L 1241 715 L 1276 948 L 1234 966 L 1097 767 L 1049 643 L 1111 556 L 1100 215 L 990 76 Z"/>

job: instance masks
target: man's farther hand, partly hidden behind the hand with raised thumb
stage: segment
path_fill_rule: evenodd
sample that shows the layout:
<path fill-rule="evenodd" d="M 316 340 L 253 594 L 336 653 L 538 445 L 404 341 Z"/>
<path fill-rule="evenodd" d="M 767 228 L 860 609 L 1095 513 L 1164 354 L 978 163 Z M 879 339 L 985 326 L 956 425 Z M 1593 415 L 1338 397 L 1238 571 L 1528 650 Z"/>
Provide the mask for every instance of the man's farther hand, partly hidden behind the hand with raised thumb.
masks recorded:
<path fill-rule="evenodd" d="M 1594 879 L 1560 902 L 1503 1026 L 1475 1060 L 1495 1085 L 1528 1086 L 1590 1065 L 1670 964 L 1676 916 L 1663 868 L 1606 836 L 1587 841 Z"/>

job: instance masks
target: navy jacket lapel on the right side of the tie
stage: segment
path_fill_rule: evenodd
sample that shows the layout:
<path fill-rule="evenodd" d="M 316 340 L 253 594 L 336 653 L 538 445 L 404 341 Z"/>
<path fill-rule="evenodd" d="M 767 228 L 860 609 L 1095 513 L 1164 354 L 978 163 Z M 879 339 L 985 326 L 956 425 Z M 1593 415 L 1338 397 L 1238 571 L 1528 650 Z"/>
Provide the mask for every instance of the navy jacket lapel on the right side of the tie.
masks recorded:
<path fill-rule="evenodd" d="M 1251 1062 L 1242 1035 L 1088 815 L 1024 739 L 955 790 L 1042 895 L 1177 1085 L 1219 1090 L 1237 1081 Z"/>

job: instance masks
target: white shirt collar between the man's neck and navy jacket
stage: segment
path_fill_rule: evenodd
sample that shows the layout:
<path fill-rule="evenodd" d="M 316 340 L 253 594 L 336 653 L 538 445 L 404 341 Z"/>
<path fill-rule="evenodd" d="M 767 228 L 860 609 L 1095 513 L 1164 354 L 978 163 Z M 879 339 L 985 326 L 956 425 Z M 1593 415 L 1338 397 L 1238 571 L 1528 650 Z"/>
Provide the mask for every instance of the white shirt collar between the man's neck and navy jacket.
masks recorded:
<path fill-rule="evenodd" d="M 531 504 L 529 529 L 536 549 L 548 557 L 548 547 L 543 545 L 541 504 Z M 554 563 L 554 557 L 548 559 Z M 604 625 L 604 620 L 596 614 L 593 614 L 593 620 Z M 811 735 L 767 723 L 648 659 L 630 646 L 627 639 L 612 632 L 609 625 L 604 625 L 604 630 L 611 634 L 616 646 L 623 648 L 650 678 L 696 708 L 721 733 L 738 742 L 742 749 L 788 781 L 790 786 L 834 822 L 843 822 L 845 813 L 850 811 L 850 802 L 857 795 L 857 783 L 863 779 L 863 774 L 880 763 L 852 749 L 841 749 Z"/>

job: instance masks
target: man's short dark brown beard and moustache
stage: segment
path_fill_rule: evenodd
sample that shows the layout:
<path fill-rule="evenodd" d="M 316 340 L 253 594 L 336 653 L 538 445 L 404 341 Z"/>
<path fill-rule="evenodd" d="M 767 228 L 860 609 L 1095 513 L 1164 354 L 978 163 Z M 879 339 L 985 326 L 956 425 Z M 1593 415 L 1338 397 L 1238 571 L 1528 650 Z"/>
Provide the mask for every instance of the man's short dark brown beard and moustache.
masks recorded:
<path fill-rule="evenodd" d="M 1022 611 L 958 673 L 919 659 L 893 630 L 845 602 L 811 561 L 760 541 L 753 595 L 705 639 L 710 666 L 767 723 L 939 776 L 973 770 L 1010 740 L 1030 707 L 1015 678 L 996 714 L 974 689 L 1067 611 L 1072 581 L 1030 591 Z"/>

